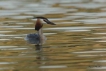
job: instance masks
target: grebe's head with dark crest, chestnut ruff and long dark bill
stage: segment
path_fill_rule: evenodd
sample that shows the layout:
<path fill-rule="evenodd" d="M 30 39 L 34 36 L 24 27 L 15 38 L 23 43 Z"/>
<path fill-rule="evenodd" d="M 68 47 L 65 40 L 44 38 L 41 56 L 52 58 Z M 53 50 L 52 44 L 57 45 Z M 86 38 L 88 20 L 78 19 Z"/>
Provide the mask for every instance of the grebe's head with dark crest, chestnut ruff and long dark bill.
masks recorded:
<path fill-rule="evenodd" d="M 46 22 L 47 24 L 56 25 L 53 22 L 49 21 L 45 17 L 34 17 L 33 19 L 37 19 L 36 25 L 35 25 L 35 30 L 37 30 L 37 31 L 39 31 L 39 29 L 42 28 L 42 26 L 43 26 L 43 24 L 41 23 L 40 19 L 43 19 L 43 21 Z"/>

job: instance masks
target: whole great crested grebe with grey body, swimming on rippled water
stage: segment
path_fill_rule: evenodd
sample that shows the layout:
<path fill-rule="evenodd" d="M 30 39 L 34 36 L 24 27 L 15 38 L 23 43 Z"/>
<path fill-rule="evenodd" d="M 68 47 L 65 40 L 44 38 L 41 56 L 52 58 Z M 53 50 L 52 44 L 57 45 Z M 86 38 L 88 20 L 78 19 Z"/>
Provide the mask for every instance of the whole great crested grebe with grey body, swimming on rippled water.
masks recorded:
<path fill-rule="evenodd" d="M 50 22 L 45 17 L 34 17 L 34 19 L 35 18 L 37 19 L 35 24 L 35 30 L 37 31 L 37 33 L 27 34 L 25 40 L 30 44 L 42 45 L 44 44 L 46 37 L 43 35 L 42 32 L 43 24 L 41 23 L 40 19 L 43 19 L 43 21 L 46 22 L 47 24 L 51 24 L 51 25 L 55 25 L 55 24 L 53 22 Z"/>

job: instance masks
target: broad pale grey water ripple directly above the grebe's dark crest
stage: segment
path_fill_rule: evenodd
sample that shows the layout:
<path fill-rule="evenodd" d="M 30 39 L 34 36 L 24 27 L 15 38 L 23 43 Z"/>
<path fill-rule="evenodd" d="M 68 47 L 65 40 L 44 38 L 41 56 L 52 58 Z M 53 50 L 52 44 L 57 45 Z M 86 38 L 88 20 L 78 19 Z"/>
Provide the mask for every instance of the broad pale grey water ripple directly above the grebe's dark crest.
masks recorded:
<path fill-rule="evenodd" d="M 32 14 L 32 15 L 45 15 L 45 14 L 51 14 L 53 12 L 57 12 L 58 14 L 58 13 L 66 12 L 62 8 L 53 8 L 49 6 L 42 8 L 42 5 L 38 7 L 31 7 L 31 8 L 26 7 L 26 8 L 29 9 L 30 12 L 26 12 L 24 14 Z M 63 12 L 58 12 L 58 11 L 63 11 Z"/>

